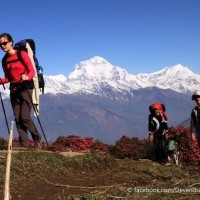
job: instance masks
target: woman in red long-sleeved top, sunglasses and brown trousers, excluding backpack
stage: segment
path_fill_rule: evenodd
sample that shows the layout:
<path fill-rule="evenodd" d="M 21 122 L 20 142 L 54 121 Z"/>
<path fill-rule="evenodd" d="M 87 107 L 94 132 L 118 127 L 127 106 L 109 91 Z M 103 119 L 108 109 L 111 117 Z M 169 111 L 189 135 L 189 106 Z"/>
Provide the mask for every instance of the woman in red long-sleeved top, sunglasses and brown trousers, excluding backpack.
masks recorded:
<path fill-rule="evenodd" d="M 21 52 L 23 63 L 13 48 L 14 41 L 8 33 L 0 34 L 0 47 L 5 52 L 2 59 L 2 68 L 5 77 L 0 79 L 0 84 L 10 83 L 10 100 L 15 116 L 19 141 L 22 147 L 28 147 L 28 132 L 31 133 L 35 148 L 41 148 L 41 136 L 31 119 L 33 107 L 31 95 L 34 88 L 33 77 L 35 70 L 26 52 Z M 4 62 L 3 62 L 4 60 Z"/>

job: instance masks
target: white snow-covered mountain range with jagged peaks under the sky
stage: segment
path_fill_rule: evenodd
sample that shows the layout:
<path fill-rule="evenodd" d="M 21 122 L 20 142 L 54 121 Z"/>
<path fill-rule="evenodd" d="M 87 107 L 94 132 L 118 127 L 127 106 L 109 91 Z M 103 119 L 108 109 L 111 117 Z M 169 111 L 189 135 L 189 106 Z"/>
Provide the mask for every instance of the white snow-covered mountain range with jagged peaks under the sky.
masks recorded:
<path fill-rule="evenodd" d="M 200 87 L 200 75 L 181 64 L 166 67 L 155 73 L 131 74 L 113 66 L 102 57 L 95 56 L 75 65 L 68 77 L 45 76 L 46 93 L 102 94 L 102 88 L 115 92 L 129 92 L 140 88 L 158 87 L 180 93 L 191 93 Z"/>

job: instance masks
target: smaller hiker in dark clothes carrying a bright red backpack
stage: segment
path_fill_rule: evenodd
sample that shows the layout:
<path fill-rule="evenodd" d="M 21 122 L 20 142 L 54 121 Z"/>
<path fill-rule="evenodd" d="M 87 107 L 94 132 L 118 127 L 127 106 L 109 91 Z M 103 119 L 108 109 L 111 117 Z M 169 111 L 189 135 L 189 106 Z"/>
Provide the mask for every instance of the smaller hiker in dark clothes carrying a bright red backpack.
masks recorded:
<path fill-rule="evenodd" d="M 168 118 L 165 114 L 165 106 L 161 103 L 154 103 L 149 106 L 149 111 L 149 140 L 154 142 L 156 160 L 161 164 L 168 164 Z"/>

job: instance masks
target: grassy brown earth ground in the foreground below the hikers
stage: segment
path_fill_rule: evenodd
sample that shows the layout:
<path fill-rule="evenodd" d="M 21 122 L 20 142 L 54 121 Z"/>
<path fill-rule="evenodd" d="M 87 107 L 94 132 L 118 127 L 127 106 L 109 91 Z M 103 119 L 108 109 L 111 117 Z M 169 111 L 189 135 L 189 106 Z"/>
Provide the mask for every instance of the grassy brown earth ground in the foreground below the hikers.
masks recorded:
<path fill-rule="evenodd" d="M 0 151 L 3 199 L 6 152 Z M 150 160 L 115 159 L 98 153 L 63 156 L 13 152 L 12 200 L 198 199 L 199 166 L 164 166 Z"/>

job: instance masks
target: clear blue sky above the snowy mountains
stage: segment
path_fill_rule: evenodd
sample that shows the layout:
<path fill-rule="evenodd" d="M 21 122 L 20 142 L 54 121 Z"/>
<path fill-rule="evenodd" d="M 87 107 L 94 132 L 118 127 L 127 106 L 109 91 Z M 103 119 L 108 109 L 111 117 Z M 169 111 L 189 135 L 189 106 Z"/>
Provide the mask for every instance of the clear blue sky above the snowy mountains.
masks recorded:
<path fill-rule="evenodd" d="M 0 16 L 0 32 L 35 40 L 46 75 L 93 56 L 133 74 L 179 63 L 200 74 L 200 0 L 9 0 Z"/>

